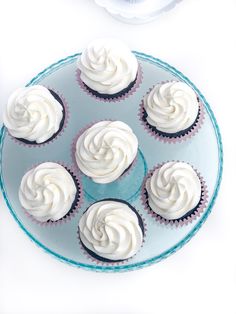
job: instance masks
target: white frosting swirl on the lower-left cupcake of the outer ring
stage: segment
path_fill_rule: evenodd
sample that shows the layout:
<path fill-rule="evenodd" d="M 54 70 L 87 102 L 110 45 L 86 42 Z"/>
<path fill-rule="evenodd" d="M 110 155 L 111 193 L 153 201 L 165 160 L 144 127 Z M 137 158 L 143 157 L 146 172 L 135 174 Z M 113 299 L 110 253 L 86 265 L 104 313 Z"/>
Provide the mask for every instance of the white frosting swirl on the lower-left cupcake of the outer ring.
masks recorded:
<path fill-rule="evenodd" d="M 45 162 L 23 176 L 19 200 L 22 207 L 36 220 L 56 221 L 69 212 L 76 191 L 74 180 L 64 167 Z"/>

